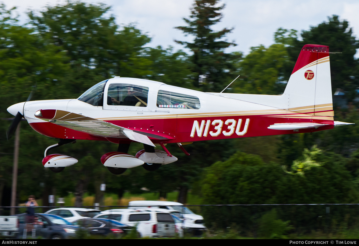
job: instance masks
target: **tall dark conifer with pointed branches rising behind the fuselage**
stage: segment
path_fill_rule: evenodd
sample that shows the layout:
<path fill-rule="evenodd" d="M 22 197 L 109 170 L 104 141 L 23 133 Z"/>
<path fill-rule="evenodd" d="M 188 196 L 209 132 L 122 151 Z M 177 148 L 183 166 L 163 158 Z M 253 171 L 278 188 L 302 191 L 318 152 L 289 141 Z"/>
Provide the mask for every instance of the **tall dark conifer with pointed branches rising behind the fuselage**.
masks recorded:
<path fill-rule="evenodd" d="M 238 60 L 242 55 L 224 52 L 225 48 L 236 45 L 222 40 L 232 29 L 224 28 L 219 32 L 211 29 L 222 19 L 220 11 L 225 5 L 218 6 L 218 2 L 219 0 L 196 0 L 190 18 L 183 18 L 187 26 L 176 27 L 186 36 L 188 34 L 194 36 L 193 42 L 176 42 L 185 45 L 193 52 L 190 60 L 193 64 L 192 71 L 196 74 L 194 86 L 202 86 L 203 91 L 221 91 L 224 88 L 223 84 L 229 81 L 228 72 L 233 69 L 232 61 Z M 200 77 L 205 80 L 203 84 L 199 82 Z"/>

